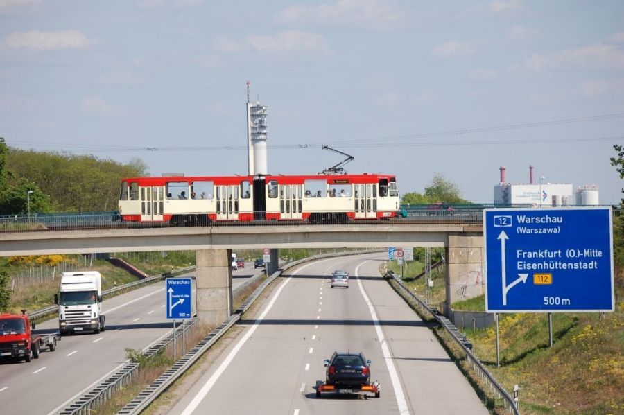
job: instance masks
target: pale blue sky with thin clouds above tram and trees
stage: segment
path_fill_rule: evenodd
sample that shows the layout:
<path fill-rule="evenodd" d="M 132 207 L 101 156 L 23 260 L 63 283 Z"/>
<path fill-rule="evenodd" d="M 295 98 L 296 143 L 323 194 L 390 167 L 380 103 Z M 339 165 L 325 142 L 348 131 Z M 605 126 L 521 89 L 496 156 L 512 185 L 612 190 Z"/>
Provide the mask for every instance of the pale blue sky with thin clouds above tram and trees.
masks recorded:
<path fill-rule="evenodd" d="M 0 0 L 0 136 L 151 175 L 246 175 L 246 82 L 268 173 L 433 175 L 491 203 L 527 183 L 624 182 L 621 0 Z"/>

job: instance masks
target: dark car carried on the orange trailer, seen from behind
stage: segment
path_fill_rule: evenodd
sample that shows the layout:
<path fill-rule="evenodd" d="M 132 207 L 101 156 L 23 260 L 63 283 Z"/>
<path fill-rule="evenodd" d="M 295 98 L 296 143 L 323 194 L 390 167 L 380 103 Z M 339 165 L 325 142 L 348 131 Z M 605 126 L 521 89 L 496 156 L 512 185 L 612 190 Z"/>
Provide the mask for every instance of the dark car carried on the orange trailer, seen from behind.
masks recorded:
<path fill-rule="evenodd" d="M 370 360 L 366 360 L 362 353 L 333 352 L 331 359 L 325 360 L 325 366 L 327 385 L 343 391 L 358 391 L 370 383 Z"/>

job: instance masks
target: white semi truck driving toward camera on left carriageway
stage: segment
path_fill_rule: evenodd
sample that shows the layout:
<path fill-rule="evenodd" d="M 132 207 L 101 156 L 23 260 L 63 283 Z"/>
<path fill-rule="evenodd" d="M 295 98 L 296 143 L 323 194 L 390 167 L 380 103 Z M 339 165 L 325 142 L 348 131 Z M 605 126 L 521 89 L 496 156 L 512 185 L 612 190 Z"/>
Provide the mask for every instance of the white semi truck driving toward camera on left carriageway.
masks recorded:
<path fill-rule="evenodd" d="M 102 315 L 102 276 L 97 271 L 63 272 L 58 304 L 58 328 L 61 335 L 106 328 Z"/>

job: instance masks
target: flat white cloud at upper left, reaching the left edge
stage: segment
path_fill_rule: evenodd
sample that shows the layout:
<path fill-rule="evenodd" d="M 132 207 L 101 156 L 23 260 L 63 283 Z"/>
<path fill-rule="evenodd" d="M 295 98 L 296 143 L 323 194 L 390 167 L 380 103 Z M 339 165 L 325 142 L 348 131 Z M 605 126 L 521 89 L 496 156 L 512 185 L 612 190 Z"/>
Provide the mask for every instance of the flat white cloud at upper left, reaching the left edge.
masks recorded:
<path fill-rule="evenodd" d="M 65 48 L 85 48 L 94 44 L 78 30 L 61 30 L 59 32 L 13 32 L 2 41 L 7 48 L 25 48 L 34 51 L 53 51 Z"/>

